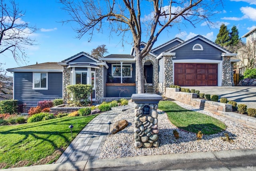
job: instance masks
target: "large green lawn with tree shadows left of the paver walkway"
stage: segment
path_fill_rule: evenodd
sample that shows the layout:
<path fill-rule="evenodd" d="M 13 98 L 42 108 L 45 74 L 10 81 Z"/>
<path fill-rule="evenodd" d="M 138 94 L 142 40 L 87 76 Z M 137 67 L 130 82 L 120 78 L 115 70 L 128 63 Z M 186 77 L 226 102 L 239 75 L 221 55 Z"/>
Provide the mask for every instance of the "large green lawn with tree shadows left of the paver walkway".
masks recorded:
<path fill-rule="evenodd" d="M 0 169 L 1 167 L 2 169 L 8 168 L 18 162 L 31 165 L 40 159 L 49 158 L 56 150 L 63 152 L 72 139 L 94 117 L 96 115 L 65 116 L 34 123 L 0 126 Z M 71 138 L 68 127 L 71 124 L 74 125 L 72 128 L 73 138 Z M 54 162 L 60 155 L 61 153 L 58 153 L 47 162 Z M 16 166 L 24 166 L 24 164 L 16 164 Z"/>

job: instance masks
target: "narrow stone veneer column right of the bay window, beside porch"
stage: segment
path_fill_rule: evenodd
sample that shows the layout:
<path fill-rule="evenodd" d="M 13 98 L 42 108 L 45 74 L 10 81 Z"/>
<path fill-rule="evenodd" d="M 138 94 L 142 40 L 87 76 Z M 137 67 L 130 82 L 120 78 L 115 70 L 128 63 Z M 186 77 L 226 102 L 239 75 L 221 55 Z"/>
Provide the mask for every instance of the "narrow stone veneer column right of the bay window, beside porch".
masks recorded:
<path fill-rule="evenodd" d="M 104 66 L 99 66 L 99 69 L 96 69 L 96 103 L 102 103 L 103 101 L 103 67 Z"/>

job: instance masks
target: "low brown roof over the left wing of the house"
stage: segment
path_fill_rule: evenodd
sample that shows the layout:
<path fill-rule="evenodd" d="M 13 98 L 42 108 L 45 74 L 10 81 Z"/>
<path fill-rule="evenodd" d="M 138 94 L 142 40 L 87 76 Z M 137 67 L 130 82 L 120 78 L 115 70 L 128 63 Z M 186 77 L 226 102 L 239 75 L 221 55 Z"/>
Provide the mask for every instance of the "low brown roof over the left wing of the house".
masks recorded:
<path fill-rule="evenodd" d="M 7 69 L 9 72 L 46 72 L 45 70 L 48 70 L 48 72 L 62 72 L 62 66 L 58 65 L 57 62 L 45 62 L 42 64 Z"/>

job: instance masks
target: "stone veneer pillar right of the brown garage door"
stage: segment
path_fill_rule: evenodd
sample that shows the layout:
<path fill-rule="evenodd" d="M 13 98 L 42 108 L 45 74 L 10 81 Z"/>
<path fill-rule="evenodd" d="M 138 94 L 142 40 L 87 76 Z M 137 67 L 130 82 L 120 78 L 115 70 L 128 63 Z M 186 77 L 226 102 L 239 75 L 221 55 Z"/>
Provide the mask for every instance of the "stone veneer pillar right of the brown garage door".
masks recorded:
<path fill-rule="evenodd" d="M 223 56 L 222 58 L 222 86 L 234 86 L 230 56 Z"/>

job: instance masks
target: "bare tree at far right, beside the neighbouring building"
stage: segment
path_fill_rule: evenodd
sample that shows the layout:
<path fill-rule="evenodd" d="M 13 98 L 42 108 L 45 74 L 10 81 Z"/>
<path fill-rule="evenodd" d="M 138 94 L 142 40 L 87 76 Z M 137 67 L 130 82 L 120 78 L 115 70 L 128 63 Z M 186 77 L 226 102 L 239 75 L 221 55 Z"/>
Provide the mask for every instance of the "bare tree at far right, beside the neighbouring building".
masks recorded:
<path fill-rule="evenodd" d="M 249 40 L 246 44 L 238 44 L 238 68 L 252 69 L 256 67 L 256 39 Z"/>

